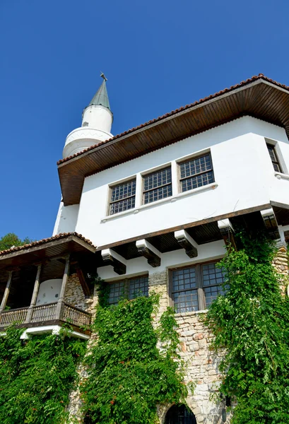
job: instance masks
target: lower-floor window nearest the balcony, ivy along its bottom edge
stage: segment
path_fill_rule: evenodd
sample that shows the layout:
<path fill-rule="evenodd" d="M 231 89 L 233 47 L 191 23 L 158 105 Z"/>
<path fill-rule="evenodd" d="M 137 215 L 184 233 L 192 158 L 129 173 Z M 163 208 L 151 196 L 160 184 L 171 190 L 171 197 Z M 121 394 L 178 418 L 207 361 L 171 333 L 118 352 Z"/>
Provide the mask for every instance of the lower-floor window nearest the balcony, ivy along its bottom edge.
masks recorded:
<path fill-rule="evenodd" d="M 135 299 L 138 296 L 148 296 L 148 276 L 126 278 L 117 283 L 110 283 L 110 305 L 117 305 L 119 299 Z"/>

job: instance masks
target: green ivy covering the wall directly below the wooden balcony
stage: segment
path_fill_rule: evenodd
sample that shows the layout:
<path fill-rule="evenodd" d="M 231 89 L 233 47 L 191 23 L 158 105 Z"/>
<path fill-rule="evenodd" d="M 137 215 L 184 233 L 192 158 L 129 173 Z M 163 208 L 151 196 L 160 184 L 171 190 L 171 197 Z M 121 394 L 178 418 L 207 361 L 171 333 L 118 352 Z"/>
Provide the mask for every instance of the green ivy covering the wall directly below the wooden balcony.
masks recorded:
<path fill-rule="evenodd" d="M 21 341 L 22 332 L 7 329 L 0 338 L 0 422 L 65 423 L 85 342 L 56 335 Z"/>

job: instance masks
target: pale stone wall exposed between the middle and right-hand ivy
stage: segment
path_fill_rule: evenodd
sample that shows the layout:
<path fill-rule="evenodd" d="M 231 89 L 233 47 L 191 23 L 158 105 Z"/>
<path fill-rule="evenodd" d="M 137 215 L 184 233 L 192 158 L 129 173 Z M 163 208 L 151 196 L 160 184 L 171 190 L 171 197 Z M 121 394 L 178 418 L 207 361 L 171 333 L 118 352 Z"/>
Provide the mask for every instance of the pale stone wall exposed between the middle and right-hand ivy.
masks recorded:
<path fill-rule="evenodd" d="M 170 305 L 168 290 L 168 272 L 153 273 L 149 276 L 149 292 L 160 294 L 160 308 L 155 317 L 155 324 L 160 315 Z M 189 392 L 187 404 L 196 416 L 198 424 L 220 423 L 220 403 L 211 400 L 213 394 L 218 391 L 220 375 L 218 373 L 217 358 L 210 350 L 210 337 L 208 330 L 202 321 L 204 312 L 186 312 L 176 314 L 179 326 L 178 334 L 180 341 L 180 352 L 184 361 L 184 381 L 196 384 L 194 394 Z M 218 395 L 216 395 L 218 396 Z M 170 405 L 158 408 L 160 423 L 165 422 L 165 414 Z M 229 422 L 229 421 L 228 421 Z"/>

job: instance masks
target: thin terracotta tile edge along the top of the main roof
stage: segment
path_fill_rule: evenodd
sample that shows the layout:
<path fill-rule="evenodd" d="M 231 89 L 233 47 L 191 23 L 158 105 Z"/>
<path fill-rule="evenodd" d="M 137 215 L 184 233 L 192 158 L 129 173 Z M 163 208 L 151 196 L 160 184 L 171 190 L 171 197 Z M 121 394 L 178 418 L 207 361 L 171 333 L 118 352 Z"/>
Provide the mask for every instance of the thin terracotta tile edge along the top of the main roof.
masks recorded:
<path fill-rule="evenodd" d="M 240 83 L 236 84 L 235 86 L 231 86 L 230 88 L 225 88 L 224 90 L 220 90 L 220 91 L 218 91 L 218 93 L 211 94 L 211 95 L 209 95 L 206 98 L 203 98 L 203 99 L 197 100 L 194 103 L 191 103 L 190 105 L 179 107 L 179 109 L 172 110 L 172 112 L 168 112 L 167 114 L 164 114 L 164 115 L 162 115 L 162 116 L 160 116 L 158 118 L 151 119 L 151 121 L 145 122 L 144 124 L 135 126 L 134 128 L 131 128 L 131 129 L 127 130 L 127 131 L 124 131 L 121 134 L 117 134 L 117 136 L 112 137 L 112 139 L 101 141 L 100 143 L 97 143 L 94 146 L 90 146 L 89 148 L 86 148 L 85 150 L 83 150 L 81 152 L 75 153 L 74 155 L 71 155 L 68 158 L 61 159 L 61 160 L 59 160 L 57 162 L 57 165 L 61 165 L 61 163 L 67 162 L 68 160 L 71 160 L 72 158 L 76 158 L 76 156 L 80 156 L 83 153 L 88 152 L 88 151 L 91 151 L 91 150 L 93 150 L 94 148 L 96 148 L 98 146 L 102 146 L 103 144 L 109 143 L 110 141 L 114 141 L 116 139 L 119 139 L 120 137 L 125 136 L 126 134 L 131 134 L 132 132 L 134 132 L 134 131 L 136 131 L 138 129 L 142 129 L 145 126 L 148 126 L 150 124 L 154 124 L 155 122 L 161 121 L 162 119 L 165 119 L 167 117 L 171 117 L 174 114 L 177 114 L 179 112 L 182 112 L 183 110 L 189 109 L 190 107 L 193 107 L 193 106 L 196 106 L 196 105 L 201 105 L 201 103 L 207 102 L 208 100 L 211 100 L 213 98 L 217 98 L 220 95 L 223 95 L 225 93 L 229 93 L 230 91 L 235 90 L 236 88 L 241 88 L 241 87 L 246 86 L 247 84 L 252 83 L 252 82 L 254 82 L 256 80 L 259 80 L 259 79 L 260 80 L 267 81 L 269 83 L 272 83 L 275 86 L 278 86 L 278 87 L 281 87 L 281 88 L 285 88 L 285 90 L 289 90 L 289 87 L 288 86 L 285 86 L 284 84 L 278 83 L 278 82 L 274 81 L 273 79 L 264 76 L 263 73 L 259 73 L 259 75 L 254 75 L 254 76 L 252 76 L 252 78 L 248 78 L 245 81 L 241 81 Z"/>

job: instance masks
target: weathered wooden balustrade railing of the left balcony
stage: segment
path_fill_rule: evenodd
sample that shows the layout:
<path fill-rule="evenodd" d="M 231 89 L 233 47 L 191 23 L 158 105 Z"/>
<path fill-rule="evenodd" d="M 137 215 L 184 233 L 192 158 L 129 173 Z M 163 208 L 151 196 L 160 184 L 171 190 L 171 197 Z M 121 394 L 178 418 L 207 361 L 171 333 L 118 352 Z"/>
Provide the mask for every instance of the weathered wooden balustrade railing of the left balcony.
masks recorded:
<path fill-rule="evenodd" d="M 16 310 L 0 312 L 0 329 L 4 329 L 11 324 L 31 327 L 47 324 L 61 324 L 68 322 L 77 327 L 88 327 L 90 325 L 90 313 L 78 307 L 74 307 L 65 302 L 57 308 L 58 303 L 48 303 L 47 305 L 21 307 Z"/>

